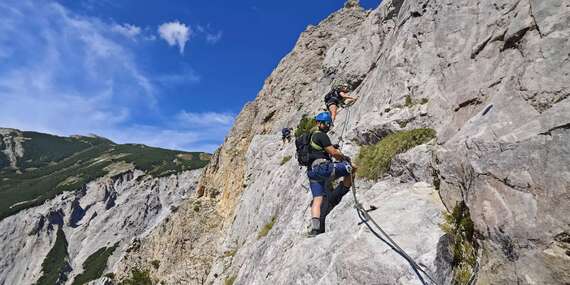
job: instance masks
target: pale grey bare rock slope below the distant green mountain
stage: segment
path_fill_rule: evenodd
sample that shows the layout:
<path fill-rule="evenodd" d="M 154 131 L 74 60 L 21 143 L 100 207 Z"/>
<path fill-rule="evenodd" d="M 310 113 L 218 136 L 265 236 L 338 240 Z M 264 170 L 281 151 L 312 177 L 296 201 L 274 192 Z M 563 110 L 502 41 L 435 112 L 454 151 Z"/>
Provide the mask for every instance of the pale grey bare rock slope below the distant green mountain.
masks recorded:
<path fill-rule="evenodd" d="M 113 268 L 133 241 L 177 210 L 200 174 L 201 170 L 194 170 L 151 178 L 133 171 L 101 178 L 79 192 L 61 194 L 6 218 L 0 222 L 0 284 L 33 284 L 46 275 L 42 263 L 54 245 L 63 242 L 57 239 L 60 229 L 67 243 L 68 266 L 58 274 L 65 276 L 58 284 L 71 284 L 85 265 L 93 266 L 85 262 L 102 248 L 114 249 L 102 269 L 106 264 Z"/>

